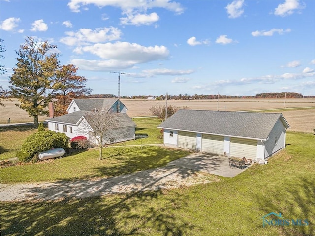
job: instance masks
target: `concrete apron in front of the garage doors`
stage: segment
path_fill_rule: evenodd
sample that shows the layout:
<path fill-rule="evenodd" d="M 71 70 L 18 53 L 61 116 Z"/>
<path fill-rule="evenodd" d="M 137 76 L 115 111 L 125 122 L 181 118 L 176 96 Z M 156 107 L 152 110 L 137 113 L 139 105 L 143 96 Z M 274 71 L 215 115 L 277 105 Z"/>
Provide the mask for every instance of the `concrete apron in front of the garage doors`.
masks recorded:
<path fill-rule="evenodd" d="M 243 166 L 242 169 L 239 167 L 232 169 L 228 164 L 228 157 L 200 152 L 171 161 L 169 164 L 230 178 L 240 174 L 251 166 Z"/>

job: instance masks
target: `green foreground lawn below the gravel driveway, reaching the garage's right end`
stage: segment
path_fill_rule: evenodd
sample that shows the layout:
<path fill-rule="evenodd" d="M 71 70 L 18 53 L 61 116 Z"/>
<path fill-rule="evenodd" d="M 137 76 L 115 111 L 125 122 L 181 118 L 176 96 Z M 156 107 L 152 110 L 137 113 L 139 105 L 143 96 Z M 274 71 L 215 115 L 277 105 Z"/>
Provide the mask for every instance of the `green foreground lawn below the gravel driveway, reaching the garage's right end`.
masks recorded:
<path fill-rule="evenodd" d="M 288 132 L 287 144 L 267 165 L 205 185 L 1 202 L 1 235 L 314 236 L 315 136 Z M 261 217 L 271 212 L 309 225 L 263 227 Z"/>

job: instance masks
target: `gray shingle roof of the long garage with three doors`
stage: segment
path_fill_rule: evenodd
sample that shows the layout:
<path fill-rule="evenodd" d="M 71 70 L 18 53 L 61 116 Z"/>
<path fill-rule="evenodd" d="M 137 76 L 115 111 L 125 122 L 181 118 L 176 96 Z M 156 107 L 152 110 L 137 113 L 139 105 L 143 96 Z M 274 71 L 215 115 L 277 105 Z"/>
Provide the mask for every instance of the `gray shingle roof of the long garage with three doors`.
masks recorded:
<path fill-rule="evenodd" d="M 279 118 L 290 127 L 280 113 L 179 110 L 158 128 L 267 139 Z"/>

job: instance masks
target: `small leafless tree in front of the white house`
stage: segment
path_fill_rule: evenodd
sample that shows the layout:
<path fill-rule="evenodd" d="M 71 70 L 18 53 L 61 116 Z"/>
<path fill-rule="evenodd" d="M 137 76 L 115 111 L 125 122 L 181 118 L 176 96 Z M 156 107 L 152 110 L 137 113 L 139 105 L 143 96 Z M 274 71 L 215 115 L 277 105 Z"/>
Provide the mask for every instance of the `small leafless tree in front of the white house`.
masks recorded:
<path fill-rule="evenodd" d="M 86 120 L 83 130 L 89 130 L 89 137 L 93 138 L 99 148 L 99 160 L 102 159 L 102 148 L 107 144 L 115 142 L 121 137 L 120 114 L 112 110 L 94 110 L 84 115 Z M 82 131 L 83 131 L 82 130 Z"/>

